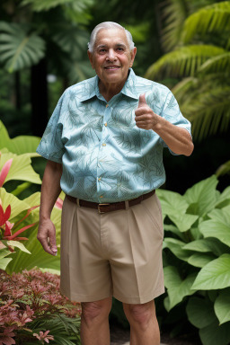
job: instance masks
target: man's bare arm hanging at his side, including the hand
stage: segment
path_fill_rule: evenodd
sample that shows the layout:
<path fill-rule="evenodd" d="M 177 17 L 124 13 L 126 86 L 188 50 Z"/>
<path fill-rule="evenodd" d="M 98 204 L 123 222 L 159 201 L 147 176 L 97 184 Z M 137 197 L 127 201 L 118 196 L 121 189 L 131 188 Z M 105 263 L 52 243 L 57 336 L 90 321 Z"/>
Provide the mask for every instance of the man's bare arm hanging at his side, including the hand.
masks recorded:
<path fill-rule="evenodd" d="M 40 226 L 37 238 L 44 251 L 56 255 L 56 229 L 50 220 L 51 211 L 61 192 L 60 179 L 62 175 L 62 164 L 48 161 L 41 184 L 40 195 Z M 49 242 L 48 242 L 49 238 Z"/>

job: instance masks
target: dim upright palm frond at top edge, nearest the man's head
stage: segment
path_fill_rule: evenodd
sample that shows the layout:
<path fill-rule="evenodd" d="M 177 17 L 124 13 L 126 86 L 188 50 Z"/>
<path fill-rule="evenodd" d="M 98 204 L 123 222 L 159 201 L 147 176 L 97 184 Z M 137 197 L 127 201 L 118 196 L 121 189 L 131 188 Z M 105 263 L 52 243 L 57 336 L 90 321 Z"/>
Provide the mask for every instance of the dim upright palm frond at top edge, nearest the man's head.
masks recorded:
<path fill-rule="evenodd" d="M 175 48 L 181 40 L 181 30 L 188 14 L 188 1 L 167 0 L 162 9 L 164 30 L 162 32 L 162 46 L 164 51 Z"/>

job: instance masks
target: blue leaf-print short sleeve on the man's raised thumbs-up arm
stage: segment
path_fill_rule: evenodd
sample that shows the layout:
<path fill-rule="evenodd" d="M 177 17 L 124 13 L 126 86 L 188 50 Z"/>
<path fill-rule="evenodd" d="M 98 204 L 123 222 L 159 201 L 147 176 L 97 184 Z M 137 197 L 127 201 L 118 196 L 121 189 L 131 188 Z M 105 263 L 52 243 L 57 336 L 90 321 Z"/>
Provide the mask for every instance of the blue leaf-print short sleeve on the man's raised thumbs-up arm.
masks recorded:
<path fill-rule="evenodd" d="M 190 132 L 190 121 L 188 119 L 185 119 L 180 111 L 180 107 L 178 102 L 176 101 L 173 93 L 170 91 L 167 94 L 166 100 L 164 102 L 164 107 L 163 107 L 163 111 L 161 113 L 161 116 L 164 119 L 167 119 L 167 121 L 173 123 L 173 125 L 184 128 L 186 130 L 188 130 L 188 132 L 190 133 L 191 136 L 191 132 Z M 168 147 L 165 143 L 164 140 L 163 141 L 163 145 L 164 147 Z M 168 147 L 169 148 L 169 147 Z M 173 153 L 173 151 L 169 148 L 170 152 L 173 155 L 176 155 Z"/>

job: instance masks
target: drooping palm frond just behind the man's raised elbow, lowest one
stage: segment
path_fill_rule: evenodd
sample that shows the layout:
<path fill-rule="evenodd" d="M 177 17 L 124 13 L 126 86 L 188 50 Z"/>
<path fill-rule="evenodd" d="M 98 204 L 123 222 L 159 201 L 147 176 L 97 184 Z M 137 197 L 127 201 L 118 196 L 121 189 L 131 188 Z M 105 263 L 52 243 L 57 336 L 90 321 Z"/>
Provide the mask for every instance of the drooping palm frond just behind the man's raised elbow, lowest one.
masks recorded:
<path fill-rule="evenodd" d="M 196 91 L 181 104 L 181 111 L 190 119 L 193 137 L 198 140 L 217 131 L 225 132 L 230 123 L 230 86 Z"/>

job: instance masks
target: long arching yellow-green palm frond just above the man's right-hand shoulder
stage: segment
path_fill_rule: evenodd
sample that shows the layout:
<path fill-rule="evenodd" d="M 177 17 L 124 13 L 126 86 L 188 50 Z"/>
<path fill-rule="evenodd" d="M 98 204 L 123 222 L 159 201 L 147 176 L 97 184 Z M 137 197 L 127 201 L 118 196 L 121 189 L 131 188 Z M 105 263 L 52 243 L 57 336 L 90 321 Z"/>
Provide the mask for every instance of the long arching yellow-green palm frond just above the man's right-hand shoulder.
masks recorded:
<path fill-rule="evenodd" d="M 195 75 L 210 57 L 225 53 L 225 49 L 211 45 L 190 45 L 181 47 L 164 55 L 146 71 L 148 79 L 164 79 L 164 77 L 179 77 Z"/>

